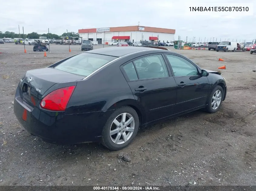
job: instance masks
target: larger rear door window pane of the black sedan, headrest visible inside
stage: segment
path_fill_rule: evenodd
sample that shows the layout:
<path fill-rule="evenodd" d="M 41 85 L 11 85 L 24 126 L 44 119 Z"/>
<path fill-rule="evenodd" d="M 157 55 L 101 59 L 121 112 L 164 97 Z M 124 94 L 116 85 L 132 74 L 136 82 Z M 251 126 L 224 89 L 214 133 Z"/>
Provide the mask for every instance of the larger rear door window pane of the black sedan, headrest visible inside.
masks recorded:
<path fill-rule="evenodd" d="M 134 61 L 140 79 L 168 77 L 162 55 L 151 55 Z"/>

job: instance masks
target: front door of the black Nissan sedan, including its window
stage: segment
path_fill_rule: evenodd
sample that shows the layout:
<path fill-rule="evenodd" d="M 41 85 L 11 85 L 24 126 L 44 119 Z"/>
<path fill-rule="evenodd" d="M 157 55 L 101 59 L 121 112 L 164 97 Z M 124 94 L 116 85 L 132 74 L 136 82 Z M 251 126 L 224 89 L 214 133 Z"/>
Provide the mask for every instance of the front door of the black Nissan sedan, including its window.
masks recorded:
<path fill-rule="evenodd" d="M 200 69 L 185 57 L 174 54 L 165 56 L 178 87 L 175 111 L 180 113 L 205 105 L 208 78 L 201 76 Z"/>

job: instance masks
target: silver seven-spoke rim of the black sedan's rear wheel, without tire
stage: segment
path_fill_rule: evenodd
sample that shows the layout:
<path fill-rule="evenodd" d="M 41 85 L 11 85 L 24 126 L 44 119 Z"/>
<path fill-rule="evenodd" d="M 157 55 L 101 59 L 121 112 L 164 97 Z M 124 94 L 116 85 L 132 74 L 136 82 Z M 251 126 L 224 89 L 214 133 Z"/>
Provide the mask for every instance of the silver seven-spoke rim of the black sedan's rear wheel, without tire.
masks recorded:
<path fill-rule="evenodd" d="M 123 144 L 127 142 L 134 132 L 135 121 L 131 114 L 122 113 L 111 123 L 109 136 L 113 143 Z"/>

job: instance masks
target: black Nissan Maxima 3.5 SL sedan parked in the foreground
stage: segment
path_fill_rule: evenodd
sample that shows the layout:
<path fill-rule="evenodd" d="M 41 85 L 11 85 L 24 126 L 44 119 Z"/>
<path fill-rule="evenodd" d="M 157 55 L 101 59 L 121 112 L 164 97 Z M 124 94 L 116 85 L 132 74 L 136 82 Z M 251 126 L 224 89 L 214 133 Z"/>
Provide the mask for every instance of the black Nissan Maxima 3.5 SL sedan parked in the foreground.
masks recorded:
<path fill-rule="evenodd" d="M 198 109 L 218 111 L 227 93 L 221 73 L 165 48 L 91 50 L 20 79 L 14 113 L 46 142 L 127 146 L 139 126 Z"/>

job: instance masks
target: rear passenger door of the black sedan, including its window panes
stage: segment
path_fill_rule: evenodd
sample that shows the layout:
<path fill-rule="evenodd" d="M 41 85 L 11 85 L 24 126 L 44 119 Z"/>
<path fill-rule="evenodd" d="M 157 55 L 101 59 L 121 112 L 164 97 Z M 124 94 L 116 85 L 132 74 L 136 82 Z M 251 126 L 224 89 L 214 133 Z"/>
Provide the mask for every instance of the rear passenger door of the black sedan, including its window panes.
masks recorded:
<path fill-rule="evenodd" d="M 174 114 L 177 85 L 163 54 L 142 56 L 121 67 L 145 123 Z"/>

